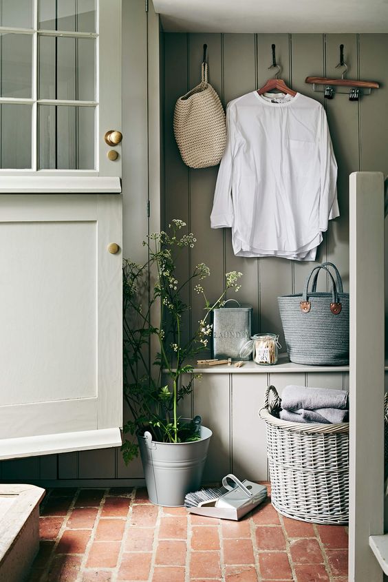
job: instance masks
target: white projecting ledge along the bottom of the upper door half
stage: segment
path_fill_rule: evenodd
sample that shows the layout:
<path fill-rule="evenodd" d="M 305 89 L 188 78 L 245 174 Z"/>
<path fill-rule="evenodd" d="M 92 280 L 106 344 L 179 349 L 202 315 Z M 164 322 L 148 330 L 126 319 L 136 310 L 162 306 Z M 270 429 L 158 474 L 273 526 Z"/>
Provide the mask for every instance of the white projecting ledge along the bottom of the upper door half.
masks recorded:
<path fill-rule="evenodd" d="M 118 176 L 1 176 L 0 194 L 120 194 Z"/>

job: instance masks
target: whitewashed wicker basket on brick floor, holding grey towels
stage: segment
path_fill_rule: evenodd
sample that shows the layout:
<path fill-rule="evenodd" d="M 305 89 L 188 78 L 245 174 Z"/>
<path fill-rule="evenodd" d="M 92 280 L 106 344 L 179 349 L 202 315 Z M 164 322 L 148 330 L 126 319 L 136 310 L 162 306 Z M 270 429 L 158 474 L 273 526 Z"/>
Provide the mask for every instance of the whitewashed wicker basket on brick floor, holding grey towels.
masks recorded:
<path fill-rule="evenodd" d="M 267 424 L 272 505 L 292 519 L 346 525 L 349 423 L 288 422 L 279 419 L 280 408 L 276 388 L 268 386 L 259 416 Z"/>

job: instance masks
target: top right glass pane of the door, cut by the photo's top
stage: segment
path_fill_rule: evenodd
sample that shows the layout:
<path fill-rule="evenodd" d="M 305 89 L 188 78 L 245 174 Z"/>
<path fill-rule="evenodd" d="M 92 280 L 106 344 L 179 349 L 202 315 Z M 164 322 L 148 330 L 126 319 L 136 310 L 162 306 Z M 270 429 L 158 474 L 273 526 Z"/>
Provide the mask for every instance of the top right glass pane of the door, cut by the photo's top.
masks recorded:
<path fill-rule="evenodd" d="M 96 0 L 39 0 L 39 28 L 96 32 Z"/>

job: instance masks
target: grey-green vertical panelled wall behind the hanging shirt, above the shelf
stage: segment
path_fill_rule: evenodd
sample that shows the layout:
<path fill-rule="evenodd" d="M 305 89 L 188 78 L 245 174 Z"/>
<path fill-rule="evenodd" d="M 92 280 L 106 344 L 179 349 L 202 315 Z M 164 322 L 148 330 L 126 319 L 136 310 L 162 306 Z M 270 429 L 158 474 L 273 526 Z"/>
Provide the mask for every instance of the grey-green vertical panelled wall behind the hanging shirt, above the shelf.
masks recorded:
<path fill-rule="evenodd" d="M 255 90 L 269 76 L 271 45 L 276 45 L 281 76 L 294 90 L 325 104 L 338 162 L 338 202 L 341 217 L 330 227 L 319 247 L 317 262 L 330 260 L 341 271 L 345 289 L 349 284 L 349 174 L 357 170 L 378 170 L 388 174 L 388 34 L 165 34 L 165 200 L 164 222 L 181 218 L 197 236 L 195 248 L 179 265 L 183 279 L 188 271 L 204 261 L 211 269 L 206 280 L 210 299 L 224 286 L 225 273 L 244 273 L 242 288 L 233 298 L 253 306 L 252 331 L 277 332 L 284 337 L 277 296 L 301 291 L 312 262 L 300 263 L 281 258 L 235 257 L 230 229 L 210 228 L 210 214 L 218 167 L 188 169 L 180 158 L 173 138 L 173 107 L 178 96 L 200 80 L 203 45 L 208 45 L 209 81 L 224 105 Z M 358 102 L 346 94 L 332 101 L 313 92 L 305 83 L 308 75 L 338 76 L 339 45 L 345 45 L 349 79 L 380 81 L 382 87 Z M 372 258 L 371 258 L 372 259 Z M 327 282 L 321 276 L 321 286 Z M 179 278 L 179 277 L 178 277 Z M 388 285 L 387 285 L 388 288 Z M 191 291 L 191 322 L 202 313 L 201 298 Z"/>

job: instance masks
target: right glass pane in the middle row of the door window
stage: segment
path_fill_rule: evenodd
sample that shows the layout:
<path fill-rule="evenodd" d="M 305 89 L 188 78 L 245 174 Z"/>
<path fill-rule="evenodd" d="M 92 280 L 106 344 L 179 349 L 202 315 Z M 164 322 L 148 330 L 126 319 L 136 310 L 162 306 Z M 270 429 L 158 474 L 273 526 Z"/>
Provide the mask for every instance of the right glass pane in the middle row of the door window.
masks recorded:
<path fill-rule="evenodd" d="M 95 39 L 39 37 L 39 98 L 94 101 Z"/>

